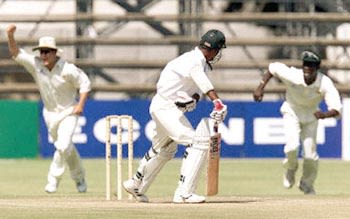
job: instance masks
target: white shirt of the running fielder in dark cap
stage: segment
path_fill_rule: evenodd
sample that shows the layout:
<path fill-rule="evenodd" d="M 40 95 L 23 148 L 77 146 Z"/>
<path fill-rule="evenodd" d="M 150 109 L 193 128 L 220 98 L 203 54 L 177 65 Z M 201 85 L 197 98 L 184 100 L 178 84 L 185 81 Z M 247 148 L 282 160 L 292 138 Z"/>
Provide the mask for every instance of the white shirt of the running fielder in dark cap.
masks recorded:
<path fill-rule="evenodd" d="M 275 62 L 269 65 L 270 73 L 279 78 L 286 86 L 286 104 L 282 108 L 292 108 L 297 111 L 316 112 L 322 99 L 328 110 L 335 109 L 341 113 L 339 92 L 326 75 L 318 72 L 314 83 L 307 85 L 302 69 L 288 67 Z"/>

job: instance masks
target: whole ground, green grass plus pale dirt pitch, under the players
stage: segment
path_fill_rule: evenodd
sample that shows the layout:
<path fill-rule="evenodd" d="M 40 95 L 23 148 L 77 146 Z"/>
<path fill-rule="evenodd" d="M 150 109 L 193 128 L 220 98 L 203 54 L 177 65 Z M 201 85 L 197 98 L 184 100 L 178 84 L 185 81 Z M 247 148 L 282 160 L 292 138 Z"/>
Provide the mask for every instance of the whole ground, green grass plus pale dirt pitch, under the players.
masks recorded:
<path fill-rule="evenodd" d="M 0 160 L 0 218 L 350 218 L 350 163 L 340 160 L 321 159 L 317 195 L 305 196 L 282 187 L 280 159 L 223 159 L 220 192 L 204 204 L 171 203 L 180 160 L 161 171 L 147 193 L 150 203 L 105 201 L 104 160 L 83 162 L 86 194 L 77 193 L 66 172 L 59 191 L 49 195 L 44 186 L 50 160 Z M 198 193 L 204 193 L 203 180 Z"/>

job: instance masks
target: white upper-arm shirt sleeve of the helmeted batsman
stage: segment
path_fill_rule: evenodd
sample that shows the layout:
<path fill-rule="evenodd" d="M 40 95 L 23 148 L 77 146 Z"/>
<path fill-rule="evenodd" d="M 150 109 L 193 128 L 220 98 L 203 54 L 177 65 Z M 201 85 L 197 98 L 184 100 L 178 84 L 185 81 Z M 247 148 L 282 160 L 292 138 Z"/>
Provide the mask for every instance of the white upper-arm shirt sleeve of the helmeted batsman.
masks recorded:
<path fill-rule="evenodd" d="M 213 90 L 214 86 L 210 82 L 208 76 L 205 74 L 203 67 L 199 64 L 190 69 L 190 76 L 198 88 L 204 93 Z"/>

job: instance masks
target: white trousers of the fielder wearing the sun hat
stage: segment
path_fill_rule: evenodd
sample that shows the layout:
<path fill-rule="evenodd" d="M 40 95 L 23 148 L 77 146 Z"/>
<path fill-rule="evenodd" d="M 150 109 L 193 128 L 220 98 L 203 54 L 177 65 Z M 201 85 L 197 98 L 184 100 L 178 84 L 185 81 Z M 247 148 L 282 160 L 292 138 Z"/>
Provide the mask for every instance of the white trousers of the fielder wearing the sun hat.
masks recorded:
<path fill-rule="evenodd" d="M 72 111 L 72 109 L 68 109 Z M 72 137 L 78 122 L 78 116 L 63 111 L 61 113 L 43 111 L 46 125 L 54 141 L 56 151 L 50 165 L 48 182 L 59 182 L 68 166 L 71 178 L 75 182 L 85 177 L 79 152 L 76 150 Z M 59 119 L 57 119 L 59 118 Z"/>

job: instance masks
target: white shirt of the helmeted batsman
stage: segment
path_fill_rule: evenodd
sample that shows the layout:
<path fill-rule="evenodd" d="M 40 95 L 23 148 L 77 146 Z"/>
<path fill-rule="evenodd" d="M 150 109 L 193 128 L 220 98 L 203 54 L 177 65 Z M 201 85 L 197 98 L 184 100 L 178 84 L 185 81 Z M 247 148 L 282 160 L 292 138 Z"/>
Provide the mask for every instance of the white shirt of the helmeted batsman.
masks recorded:
<path fill-rule="evenodd" d="M 207 93 L 214 89 L 207 76 L 209 70 L 203 53 L 196 47 L 165 66 L 157 83 L 157 94 L 175 102 L 177 91 L 184 91 L 189 96 Z"/>

